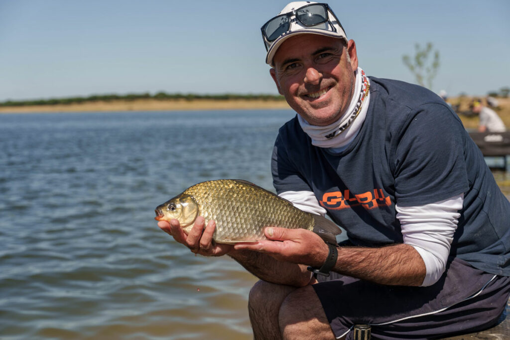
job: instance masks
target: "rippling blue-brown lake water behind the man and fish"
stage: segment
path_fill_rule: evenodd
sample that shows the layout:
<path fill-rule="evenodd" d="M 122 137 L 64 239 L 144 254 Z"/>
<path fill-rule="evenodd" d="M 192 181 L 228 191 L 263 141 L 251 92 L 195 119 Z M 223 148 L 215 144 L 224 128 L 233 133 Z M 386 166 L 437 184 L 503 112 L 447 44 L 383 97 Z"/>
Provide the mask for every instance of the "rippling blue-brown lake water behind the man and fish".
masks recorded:
<path fill-rule="evenodd" d="M 293 115 L 0 115 L 0 338 L 252 338 L 256 278 L 176 244 L 154 208 L 203 180 L 272 190 L 272 145 Z"/>

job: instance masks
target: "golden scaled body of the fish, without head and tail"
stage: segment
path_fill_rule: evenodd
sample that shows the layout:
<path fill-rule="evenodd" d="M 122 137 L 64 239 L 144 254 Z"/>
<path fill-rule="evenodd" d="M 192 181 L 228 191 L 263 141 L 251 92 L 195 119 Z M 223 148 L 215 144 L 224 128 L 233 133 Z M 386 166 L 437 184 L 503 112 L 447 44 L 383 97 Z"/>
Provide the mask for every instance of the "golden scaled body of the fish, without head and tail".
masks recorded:
<path fill-rule="evenodd" d="M 216 221 L 218 243 L 265 239 L 265 226 L 313 230 L 313 218 L 290 202 L 236 180 L 202 182 L 184 191 L 192 196 L 206 221 Z"/>

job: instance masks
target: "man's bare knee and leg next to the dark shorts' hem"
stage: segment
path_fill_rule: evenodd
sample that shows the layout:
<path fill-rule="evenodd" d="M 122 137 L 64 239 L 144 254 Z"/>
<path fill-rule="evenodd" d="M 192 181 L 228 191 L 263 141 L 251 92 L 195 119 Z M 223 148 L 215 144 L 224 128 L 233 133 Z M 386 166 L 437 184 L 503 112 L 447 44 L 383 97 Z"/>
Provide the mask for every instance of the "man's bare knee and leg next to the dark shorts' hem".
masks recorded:
<path fill-rule="evenodd" d="M 288 294 L 279 310 L 278 323 L 284 339 L 335 339 L 310 285 Z"/>

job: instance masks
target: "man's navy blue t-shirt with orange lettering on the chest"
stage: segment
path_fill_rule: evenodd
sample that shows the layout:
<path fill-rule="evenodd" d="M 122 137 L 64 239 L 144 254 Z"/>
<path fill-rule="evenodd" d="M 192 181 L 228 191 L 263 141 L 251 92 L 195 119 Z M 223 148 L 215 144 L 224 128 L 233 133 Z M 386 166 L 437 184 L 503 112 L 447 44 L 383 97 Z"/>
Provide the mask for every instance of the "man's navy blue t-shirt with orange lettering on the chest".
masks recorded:
<path fill-rule="evenodd" d="M 279 130 L 272 173 L 277 193 L 313 191 L 361 246 L 402 243 L 395 204 L 464 193 L 450 255 L 510 275 L 510 203 L 461 120 L 425 88 L 370 77 L 365 122 L 340 153 L 313 146 L 295 117 Z"/>

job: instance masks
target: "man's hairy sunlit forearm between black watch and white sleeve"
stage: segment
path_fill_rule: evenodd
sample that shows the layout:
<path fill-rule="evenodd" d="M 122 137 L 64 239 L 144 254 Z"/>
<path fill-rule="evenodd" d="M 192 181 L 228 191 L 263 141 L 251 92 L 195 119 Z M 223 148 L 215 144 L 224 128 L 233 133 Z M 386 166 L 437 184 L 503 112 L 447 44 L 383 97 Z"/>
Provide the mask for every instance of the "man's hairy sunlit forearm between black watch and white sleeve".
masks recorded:
<path fill-rule="evenodd" d="M 426 268 L 416 249 L 396 244 L 380 248 L 339 247 L 333 271 L 380 284 L 419 286 Z"/>

